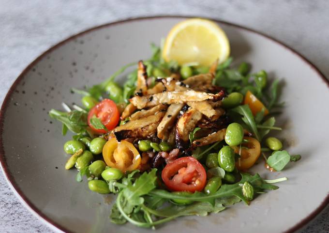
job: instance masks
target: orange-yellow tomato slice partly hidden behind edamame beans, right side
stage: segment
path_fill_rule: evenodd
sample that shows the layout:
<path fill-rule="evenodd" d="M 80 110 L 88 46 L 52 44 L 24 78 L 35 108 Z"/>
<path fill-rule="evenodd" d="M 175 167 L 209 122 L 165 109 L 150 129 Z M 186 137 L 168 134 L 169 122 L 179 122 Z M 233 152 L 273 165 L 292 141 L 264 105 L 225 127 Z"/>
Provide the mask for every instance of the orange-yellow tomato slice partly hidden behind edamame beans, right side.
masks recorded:
<path fill-rule="evenodd" d="M 243 139 L 248 140 L 248 142 L 242 143 L 242 146 L 248 147 L 248 149 L 242 148 L 240 152 L 239 146 L 232 146 L 235 153 L 240 152 L 240 161 L 238 160 L 235 164 L 239 170 L 251 168 L 260 156 L 259 142 L 252 137 L 243 137 Z"/>

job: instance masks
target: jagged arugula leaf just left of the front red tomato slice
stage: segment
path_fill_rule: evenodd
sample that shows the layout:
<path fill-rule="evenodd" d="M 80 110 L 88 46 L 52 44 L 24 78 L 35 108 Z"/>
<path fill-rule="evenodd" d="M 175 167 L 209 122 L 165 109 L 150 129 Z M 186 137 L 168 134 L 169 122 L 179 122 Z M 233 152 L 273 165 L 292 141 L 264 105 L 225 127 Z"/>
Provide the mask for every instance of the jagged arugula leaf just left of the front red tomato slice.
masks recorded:
<path fill-rule="evenodd" d="M 144 198 L 141 196 L 155 189 L 156 171 L 156 169 L 152 169 L 149 173 L 144 172 L 133 184 L 129 183 L 126 189 L 123 189 L 123 196 L 129 204 L 140 205 L 144 203 Z"/>

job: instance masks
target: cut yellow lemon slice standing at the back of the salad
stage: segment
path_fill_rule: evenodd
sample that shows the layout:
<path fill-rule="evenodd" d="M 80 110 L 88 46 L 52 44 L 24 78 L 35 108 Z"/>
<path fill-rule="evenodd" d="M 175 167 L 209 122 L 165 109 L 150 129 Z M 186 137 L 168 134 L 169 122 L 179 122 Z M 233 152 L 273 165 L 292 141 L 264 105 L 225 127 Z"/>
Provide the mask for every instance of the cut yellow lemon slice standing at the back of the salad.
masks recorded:
<path fill-rule="evenodd" d="M 230 44 L 223 29 L 216 23 L 200 18 L 176 24 L 165 40 L 162 56 L 165 61 L 175 60 L 179 65 L 196 62 L 210 66 L 228 58 Z"/>

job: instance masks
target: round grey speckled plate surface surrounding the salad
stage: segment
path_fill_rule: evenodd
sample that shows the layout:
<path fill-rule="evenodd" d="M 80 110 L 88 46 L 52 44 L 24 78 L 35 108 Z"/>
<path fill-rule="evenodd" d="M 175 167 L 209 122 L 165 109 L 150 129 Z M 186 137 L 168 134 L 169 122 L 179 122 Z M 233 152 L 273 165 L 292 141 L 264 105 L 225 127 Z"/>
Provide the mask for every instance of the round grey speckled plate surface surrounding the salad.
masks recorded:
<path fill-rule="evenodd" d="M 154 232 L 109 221 L 114 196 L 92 193 L 86 181 L 65 171 L 62 150 L 71 135 L 47 115 L 61 102 L 79 103 L 71 87 L 99 83 L 122 65 L 148 58 L 149 44 L 159 43 L 183 17 L 139 18 L 103 25 L 75 35 L 33 61 L 9 90 L 0 112 L 0 161 L 9 184 L 37 217 L 64 232 Z M 329 82 L 289 47 L 250 29 L 220 22 L 231 42 L 235 62 L 269 71 L 284 84 L 284 114 L 279 117 L 284 146 L 302 159 L 283 172 L 254 169 L 266 178 L 287 176 L 280 189 L 208 217 L 186 217 L 157 232 L 294 232 L 329 203 Z"/>

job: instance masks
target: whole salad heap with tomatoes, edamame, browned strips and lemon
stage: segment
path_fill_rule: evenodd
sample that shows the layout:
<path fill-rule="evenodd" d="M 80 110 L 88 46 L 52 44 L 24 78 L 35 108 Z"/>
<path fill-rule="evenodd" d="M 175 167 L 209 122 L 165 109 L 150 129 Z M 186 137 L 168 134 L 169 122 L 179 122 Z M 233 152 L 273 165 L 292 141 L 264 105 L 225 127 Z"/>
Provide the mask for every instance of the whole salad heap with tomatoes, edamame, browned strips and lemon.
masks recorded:
<path fill-rule="evenodd" d="M 193 25 L 208 29 L 219 43 L 211 37 L 206 43 L 220 48 L 209 56 L 182 53 L 181 46 L 175 52 L 175 40 L 184 39 L 179 33 L 195 33 Z M 204 36 L 198 35 L 194 43 L 203 48 Z M 217 25 L 183 21 L 163 44 L 151 44 L 149 59 L 123 66 L 98 85 L 72 88 L 83 95 L 83 107 L 63 103 L 65 111 L 49 111 L 63 135 L 74 133 L 64 144 L 71 155 L 65 169 L 75 167 L 76 181 L 87 179 L 91 191 L 117 194 L 109 213 L 116 224 L 155 228 L 180 216 L 249 204 L 287 180 L 266 180 L 250 168 L 264 162 L 269 172 L 281 171 L 300 159 L 267 136 L 282 130 L 275 126 L 284 105 L 278 102 L 279 80 L 268 80 L 264 70 L 250 73 L 246 62 L 233 66 Z M 132 67 L 123 86 L 115 82 Z"/>

